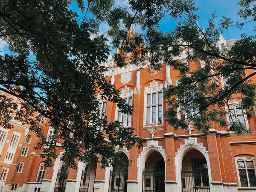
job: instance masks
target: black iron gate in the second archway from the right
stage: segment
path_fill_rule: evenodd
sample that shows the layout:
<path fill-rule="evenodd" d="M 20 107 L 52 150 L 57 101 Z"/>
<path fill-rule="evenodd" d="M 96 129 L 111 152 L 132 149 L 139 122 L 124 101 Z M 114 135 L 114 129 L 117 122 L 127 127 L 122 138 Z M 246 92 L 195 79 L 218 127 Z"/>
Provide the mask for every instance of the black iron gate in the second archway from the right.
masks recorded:
<path fill-rule="evenodd" d="M 145 166 L 143 170 L 143 192 L 165 192 L 164 165 Z"/>

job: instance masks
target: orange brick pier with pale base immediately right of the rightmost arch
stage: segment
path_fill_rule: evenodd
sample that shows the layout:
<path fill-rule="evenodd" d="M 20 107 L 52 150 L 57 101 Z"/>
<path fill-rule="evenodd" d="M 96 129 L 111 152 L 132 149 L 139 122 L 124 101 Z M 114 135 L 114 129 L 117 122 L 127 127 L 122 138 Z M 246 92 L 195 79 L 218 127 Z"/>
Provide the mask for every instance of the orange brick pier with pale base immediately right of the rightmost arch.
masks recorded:
<path fill-rule="evenodd" d="M 218 156 L 218 145 L 215 134 L 207 135 L 207 145 L 212 176 L 212 191 L 224 192 L 221 178 L 221 166 Z"/>

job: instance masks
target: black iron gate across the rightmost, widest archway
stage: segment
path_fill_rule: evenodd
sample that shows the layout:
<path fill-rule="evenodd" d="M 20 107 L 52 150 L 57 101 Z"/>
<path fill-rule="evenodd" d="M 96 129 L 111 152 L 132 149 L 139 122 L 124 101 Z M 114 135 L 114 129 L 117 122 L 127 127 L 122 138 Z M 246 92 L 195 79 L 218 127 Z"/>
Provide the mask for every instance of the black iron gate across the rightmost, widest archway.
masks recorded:
<path fill-rule="evenodd" d="M 181 169 L 182 192 L 209 192 L 207 168 Z"/>

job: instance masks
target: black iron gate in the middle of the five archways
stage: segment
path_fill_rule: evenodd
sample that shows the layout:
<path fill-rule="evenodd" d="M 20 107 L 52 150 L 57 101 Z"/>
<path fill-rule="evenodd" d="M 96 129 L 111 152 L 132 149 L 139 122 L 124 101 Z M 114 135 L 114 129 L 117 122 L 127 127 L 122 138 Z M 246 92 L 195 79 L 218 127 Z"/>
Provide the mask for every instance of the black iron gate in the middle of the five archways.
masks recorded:
<path fill-rule="evenodd" d="M 113 169 L 110 172 L 108 192 L 127 192 L 128 169 Z"/>

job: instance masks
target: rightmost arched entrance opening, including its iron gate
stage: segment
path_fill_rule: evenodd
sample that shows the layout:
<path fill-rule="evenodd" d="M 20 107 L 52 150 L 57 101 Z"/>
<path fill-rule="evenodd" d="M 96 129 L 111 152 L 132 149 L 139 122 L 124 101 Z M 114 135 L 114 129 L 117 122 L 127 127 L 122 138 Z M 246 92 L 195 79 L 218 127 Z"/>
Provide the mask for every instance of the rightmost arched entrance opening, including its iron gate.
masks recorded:
<path fill-rule="evenodd" d="M 209 175 L 204 155 L 195 149 L 188 151 L 182 160 L 182 192 L 209 192 Z"/>

